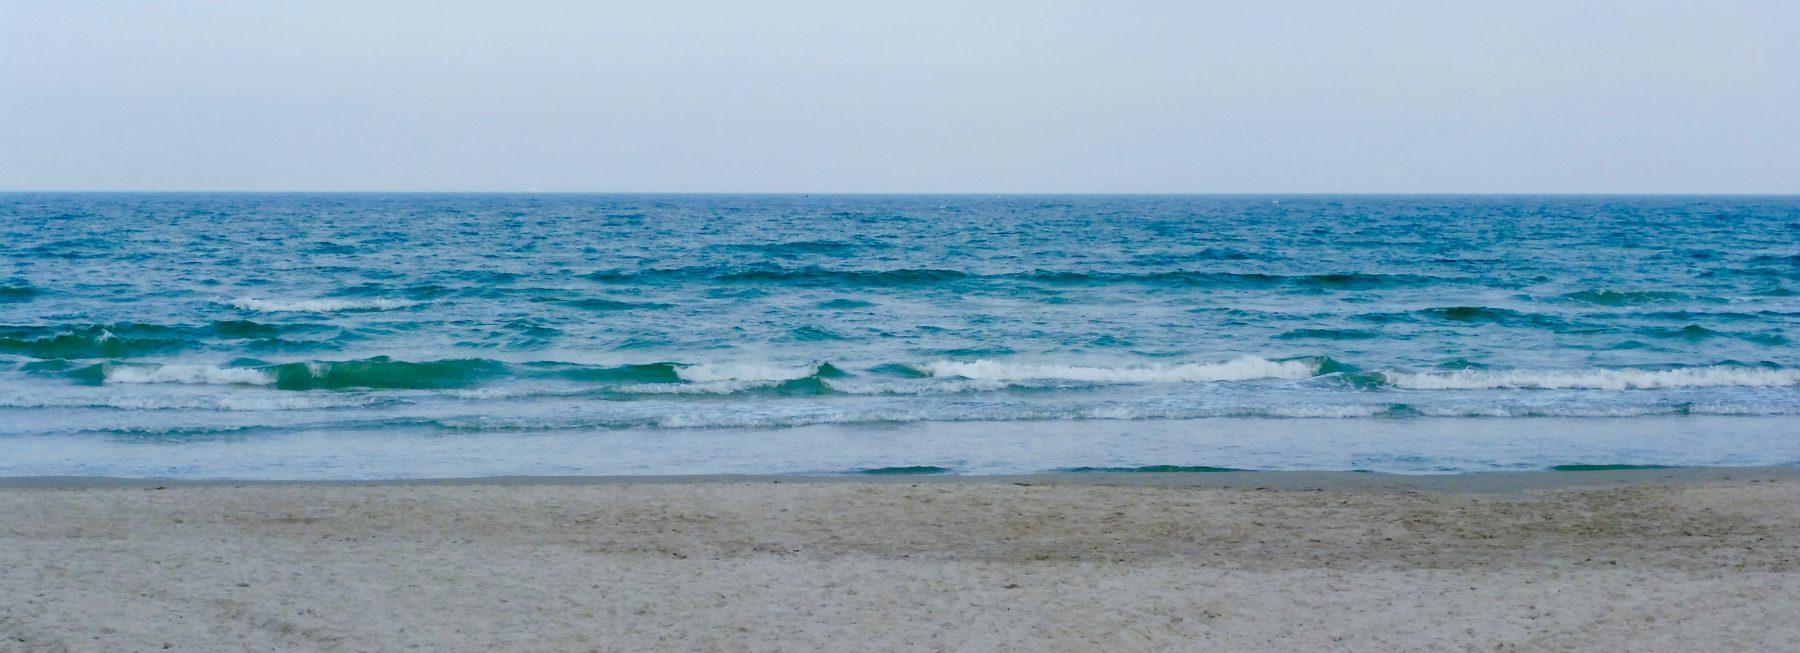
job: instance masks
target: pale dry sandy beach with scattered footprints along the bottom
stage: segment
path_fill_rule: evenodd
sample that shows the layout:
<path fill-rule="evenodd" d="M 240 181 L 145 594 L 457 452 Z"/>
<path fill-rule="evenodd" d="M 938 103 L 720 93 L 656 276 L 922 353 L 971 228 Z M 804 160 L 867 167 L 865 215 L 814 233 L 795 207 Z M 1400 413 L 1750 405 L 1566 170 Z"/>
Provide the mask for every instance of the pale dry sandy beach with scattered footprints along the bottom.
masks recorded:
<path fill-rule="evenodd" d="M 1793 470 L 1348 477 L 13 480 L 0 649 L 1800 649 Z"/>

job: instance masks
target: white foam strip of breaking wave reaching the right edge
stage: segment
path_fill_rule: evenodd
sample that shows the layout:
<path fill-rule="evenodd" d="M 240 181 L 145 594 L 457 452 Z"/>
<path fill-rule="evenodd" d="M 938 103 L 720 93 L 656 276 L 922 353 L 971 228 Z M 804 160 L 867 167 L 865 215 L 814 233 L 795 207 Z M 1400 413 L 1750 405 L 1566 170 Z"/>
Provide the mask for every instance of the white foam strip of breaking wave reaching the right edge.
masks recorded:
<path fill-rule="evenodd" d="M 1382 372 L 1388 383 L 1413 390 L 1652 390 L 1705 387 L 1784 387 L 1800 385 L 1800 369 L 1766 367 L 1679 367 L 1679 369 L 1580 369 L 1580 371 L 1456 371 L 1456 372 Z"/>

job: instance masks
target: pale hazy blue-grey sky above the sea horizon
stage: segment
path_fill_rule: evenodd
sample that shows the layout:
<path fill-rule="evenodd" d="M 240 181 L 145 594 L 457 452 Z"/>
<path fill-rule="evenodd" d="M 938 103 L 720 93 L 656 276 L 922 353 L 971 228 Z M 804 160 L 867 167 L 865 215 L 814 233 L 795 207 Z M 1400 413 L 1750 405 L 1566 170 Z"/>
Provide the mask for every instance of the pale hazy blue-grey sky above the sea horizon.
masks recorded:
<path fill-rule="evenodd" d="M 1800 192 L 1796 34 L 1793 0 L 0 0 L 0 189 Z"/>

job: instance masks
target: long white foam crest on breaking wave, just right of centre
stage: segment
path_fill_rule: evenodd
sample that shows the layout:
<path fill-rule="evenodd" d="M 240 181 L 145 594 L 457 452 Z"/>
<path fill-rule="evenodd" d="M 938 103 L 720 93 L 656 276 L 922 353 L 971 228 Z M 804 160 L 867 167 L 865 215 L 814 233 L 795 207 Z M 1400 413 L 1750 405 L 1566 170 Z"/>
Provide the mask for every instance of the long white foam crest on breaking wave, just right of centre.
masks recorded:
<path fill-rule="evenodd" d="M 1208 381 L 1249 381 L 1249 380 L 1303 380 L 1318 374 L 1319 367 L 1300 360 L 1267 360 L 1244 356 L 1222 363 L 1179 363 L 1179 365 L 1134 365 L 1134 367 L 1085 367 L 1085 365 L 1033 365 L 1006 363 L 995 360 L 934 362 L 920 367 L 931 376 L 959 376 L 985 381 L 1017 380 L 1058 380 L 1087 383 L 1208 383 Z"/>

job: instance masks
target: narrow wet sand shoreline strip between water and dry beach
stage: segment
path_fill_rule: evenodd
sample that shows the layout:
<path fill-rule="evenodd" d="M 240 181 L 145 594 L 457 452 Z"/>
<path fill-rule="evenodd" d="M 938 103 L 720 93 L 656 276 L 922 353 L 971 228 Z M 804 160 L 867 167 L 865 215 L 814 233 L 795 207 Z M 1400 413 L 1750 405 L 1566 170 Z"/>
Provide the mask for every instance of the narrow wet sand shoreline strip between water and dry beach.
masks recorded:
<path fill-rule="evenodd" d="M 931 486 L 1134 486 L 1213 488 L 1283 491 L 1431 491 L 1467 495 L 1517 495 L 1537 489 L 1624 488 L 1697 484 L 1712 480 L 1800 479 L 1800 466 L 1753 468 L 1633 468 L 1633 470 L 1528 470 L 1444 475 L 1366 471 L 1051 471 L 1026 475 L 610 475 L 610 477 L 461 477 L 461 479 L 344 479 L 344 480 L 243 480 L 243 479 L 126 479 L 126 477 L 0 477 L 0 491 L 13 489 L 106 489 L 106 488 L 403 488 L 403 486 L 668 486 L 668 484 L 931 484 Z"/>

